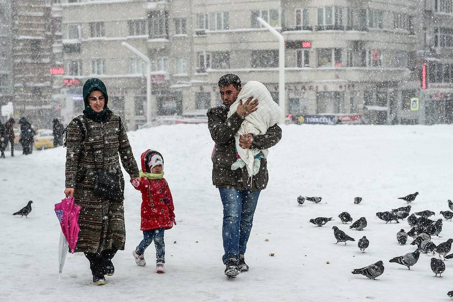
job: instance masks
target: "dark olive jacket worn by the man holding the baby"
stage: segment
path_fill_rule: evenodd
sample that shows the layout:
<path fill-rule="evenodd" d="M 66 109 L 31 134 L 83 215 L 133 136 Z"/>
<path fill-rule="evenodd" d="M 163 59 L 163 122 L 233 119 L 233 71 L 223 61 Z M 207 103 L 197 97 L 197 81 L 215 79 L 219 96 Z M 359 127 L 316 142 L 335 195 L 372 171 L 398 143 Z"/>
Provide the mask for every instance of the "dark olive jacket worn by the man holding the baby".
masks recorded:
<path fill-rule="evenodd" d="M 231 170 L 231 165 L 237 160 L 234 135 L 238 132 L 244 119 L 236 112 L 227 119 L 228 111 L 228 107 L 220 105 L 210 108 L 207 112 L 209 132 L 215 142 L 215 150 L 212 155 L 212 183 L 217 188 L 265 189 L 269 179 L 265 158 L 261 158 L 260 170 L 252 178 L 249 177 L 245 167 Z M 281 128 L 275 124 L 267 130 L 266 134 L 254 135 L 251 148 L 270 148 L 280 138 Z"/>

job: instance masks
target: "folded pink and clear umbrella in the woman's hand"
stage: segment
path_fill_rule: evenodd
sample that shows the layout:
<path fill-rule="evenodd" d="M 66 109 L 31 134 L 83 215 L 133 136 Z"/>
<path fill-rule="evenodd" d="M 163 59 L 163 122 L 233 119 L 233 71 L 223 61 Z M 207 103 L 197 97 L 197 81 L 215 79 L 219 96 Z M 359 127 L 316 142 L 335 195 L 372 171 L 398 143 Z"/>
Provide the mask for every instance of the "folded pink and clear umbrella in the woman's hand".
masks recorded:
<path fill-rule="evenodd" d="M 59 243 L 59 272 L 63 271 L 64 260 L 66 259 L 66 250 L 69 247 L 71 253 L 74 253 L 75 245 L 79 239 L 79 212 L 81 207 L 74 205 L 74 198 L 68 197 L 55 204 L 55 214 L 60 221 L 61 235 Z M 65 240 L 64 240 L 65 239 Z"/>

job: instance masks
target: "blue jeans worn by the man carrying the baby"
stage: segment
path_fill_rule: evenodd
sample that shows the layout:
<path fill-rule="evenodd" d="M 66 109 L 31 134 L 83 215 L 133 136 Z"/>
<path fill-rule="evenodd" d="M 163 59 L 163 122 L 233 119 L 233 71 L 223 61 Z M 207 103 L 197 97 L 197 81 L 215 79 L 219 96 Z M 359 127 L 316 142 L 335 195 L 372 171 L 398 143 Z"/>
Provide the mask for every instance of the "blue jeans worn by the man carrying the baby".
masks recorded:
<path fill-rule="evenodd" d="M 219 188 L 223 204 L 223 263 L 229 258 L 239 260 L 245 254 L 247 241 L 252 230 L 253 214 L 255 213 L 258 196 L 261 190 L 235 190 Z"/>

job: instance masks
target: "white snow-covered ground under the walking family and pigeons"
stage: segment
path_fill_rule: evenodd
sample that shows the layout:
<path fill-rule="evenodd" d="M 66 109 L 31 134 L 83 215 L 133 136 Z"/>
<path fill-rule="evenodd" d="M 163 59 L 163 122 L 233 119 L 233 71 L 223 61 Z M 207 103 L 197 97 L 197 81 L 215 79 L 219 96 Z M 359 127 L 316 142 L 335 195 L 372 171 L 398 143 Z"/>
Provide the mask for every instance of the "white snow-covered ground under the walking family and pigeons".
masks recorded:
<path fill-rule="evenodd" d="M 389 263 L 415 250 L 396 241 L 396 233 L 409 226 L 405 220 L 385 224 L 375 212 L 404 206 L 397 197 L 418 191 L 413 211 L 430 209 L 441 217 L 439 211 L 453 199 L 453 126 L 282 128 L 282 140 L 270 149 L 269 185 L 260 195 L 248 244 L 250 271 L 234 279 L 223 275 L 222 206 L 211 184 L 213 142 L 205 124 L 128 133 L 137 160 L 147 148 L 164 155 L 178 224 L 165 233 L 167 273 L 155 273 L 154 245 L 145 253 L 148 266 L 138 267 L 131 252 L 142 236 L 141 200 L 127 186 L 126 250 L 115 256 L 115 275 L 104 286 L 92 285 L 81 253 L 68 254 L 58 280 L 60 230 L 53 205 L 64 197 L 65 149 L 0 160 L 0 301 L 449 300 L 453 261 L 446 261 L 442 278 L 434 277 L 425 254 L 411 270 Z M 299 206 L 299 195 L 323 200 Z M 356 196 L 363 197 L 359 205 L 353 203 Z M 28 200 L 33 200 L 28 218 L 11 215 Z M 354 220 L 365 216 L 367 228 L 349 230 L 350 224 L 339 221 L 342 211 Z M 335 221 L 322 228 L 308 223 L 318 216 Z M 335 245 L 334 225 L 356 242 Z M 453 237 L 453 222 L 444 221 L 441 235 L 435 244 Z M 362 236 L 370 241 L 364 254 L 357 248 Z M 385 265 L 379 280 L 351 274 L 378 260 Z"/>

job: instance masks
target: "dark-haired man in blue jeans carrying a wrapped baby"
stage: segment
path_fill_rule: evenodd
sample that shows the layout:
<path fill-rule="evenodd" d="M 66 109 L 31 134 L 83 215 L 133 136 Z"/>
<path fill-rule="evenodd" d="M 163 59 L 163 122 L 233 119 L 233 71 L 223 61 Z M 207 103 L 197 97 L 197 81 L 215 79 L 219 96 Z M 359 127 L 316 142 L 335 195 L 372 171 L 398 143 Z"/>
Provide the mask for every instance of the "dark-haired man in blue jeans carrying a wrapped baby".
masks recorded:
<path fill-rule="evenodd" d="M 250 97 L 240 101 L 235 113 L 228 116 L 230 106 L 236 101 L 241 91 L 241 80 L 236 74 L 225 74 L 218 81 L 220 98 L 223 104 L 210 108 L 207 112 L 208 128 L 215 142 L 212 153 L 212 183 L 218 188 L 223 204 L 222 238 L 226 265 L 225 275 L 234 277 L 249 270 L 245 263 L 247 241 L 252 230 L 253 215 L 261 190 L 268 182 L 267 160 L 260 156 L 260 168 L 253 178 L 247 168 L 232 170 L 236 162 L 235 134 L 241 128 L 244 118 L 259 106 L 257 100 Z M 242 148 L 267 149 L 281 138 L 281 129 L 275 124 L 263 135 L 245 134 L 239 138 Z"/>

